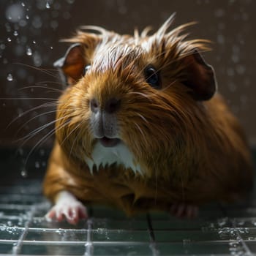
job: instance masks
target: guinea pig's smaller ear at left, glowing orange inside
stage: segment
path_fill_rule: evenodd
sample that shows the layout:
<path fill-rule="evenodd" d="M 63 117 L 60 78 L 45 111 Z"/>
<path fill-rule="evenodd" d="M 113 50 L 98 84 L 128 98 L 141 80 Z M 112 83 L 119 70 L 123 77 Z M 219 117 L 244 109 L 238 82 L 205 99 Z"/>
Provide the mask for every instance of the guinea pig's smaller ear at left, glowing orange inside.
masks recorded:
<path fill-rule="evenodd" d="M 64 57 L 58 59 L 53 64 L 61 71 L 61 77 L 72 85 L 76 83 L 83 75 L 85 59 L 83 57 L 83 46 L 79 43 L 71 45 Z"/>

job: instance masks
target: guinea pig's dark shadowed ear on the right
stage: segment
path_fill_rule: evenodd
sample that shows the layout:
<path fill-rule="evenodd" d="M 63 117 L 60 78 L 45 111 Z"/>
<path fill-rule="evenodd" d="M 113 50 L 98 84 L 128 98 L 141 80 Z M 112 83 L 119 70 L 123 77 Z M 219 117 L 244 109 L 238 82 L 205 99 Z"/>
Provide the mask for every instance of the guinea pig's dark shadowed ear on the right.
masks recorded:
<path fill-rule="evenodd" d="M 217 81 L 213 67 L 206 63 L 198 50 L 184 57 L 186 78 L 184 85 L 192 89 L 196 100 L 208 100 L 217 91 Z"/>

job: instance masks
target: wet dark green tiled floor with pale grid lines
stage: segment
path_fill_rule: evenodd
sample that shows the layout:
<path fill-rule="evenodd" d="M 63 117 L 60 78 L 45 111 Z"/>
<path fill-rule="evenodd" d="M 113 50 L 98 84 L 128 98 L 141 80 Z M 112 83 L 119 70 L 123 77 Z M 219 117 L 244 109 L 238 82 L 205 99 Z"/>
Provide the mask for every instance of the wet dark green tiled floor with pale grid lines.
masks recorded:
<path fill-rule="evenodd" d="M 0 254 L 256 254 L 255 199 L 243 205 L 204 206 L 195 219 L 177 219 L 165 213 L 127 219 L 120 211 L 97 206 L 89 208 L 90 218 L 76 226 L 47 222 L 44 215 L 49 207 L 40 179 L 2 184 Z"/>

